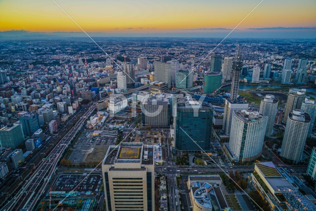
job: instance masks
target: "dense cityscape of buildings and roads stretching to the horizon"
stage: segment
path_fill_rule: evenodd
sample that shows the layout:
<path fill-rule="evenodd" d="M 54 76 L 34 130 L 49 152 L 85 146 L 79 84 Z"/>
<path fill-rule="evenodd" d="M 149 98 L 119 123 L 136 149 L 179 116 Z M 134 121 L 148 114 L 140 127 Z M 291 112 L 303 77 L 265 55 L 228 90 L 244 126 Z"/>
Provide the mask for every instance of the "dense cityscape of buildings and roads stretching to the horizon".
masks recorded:
<path fill-rule="evenodd" d="M 0 209 L 316 211 L 315 40 L 0 41 Z"/>

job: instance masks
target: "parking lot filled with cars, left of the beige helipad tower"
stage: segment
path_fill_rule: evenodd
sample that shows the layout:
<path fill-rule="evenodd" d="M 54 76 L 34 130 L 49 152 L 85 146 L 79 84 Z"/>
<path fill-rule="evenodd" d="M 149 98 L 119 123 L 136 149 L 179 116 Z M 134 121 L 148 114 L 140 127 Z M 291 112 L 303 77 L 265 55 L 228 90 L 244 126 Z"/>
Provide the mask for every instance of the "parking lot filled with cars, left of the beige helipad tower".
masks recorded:
<path fill-rule="evenodd" d="M 84 177 L 84 175 L 74 174 L 61 175 L 53 185 L 52 191 L 98 192 L 102 185 L 102 177 L 100 175 L 89 175 L 86 178 Z"/>

